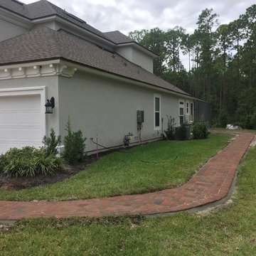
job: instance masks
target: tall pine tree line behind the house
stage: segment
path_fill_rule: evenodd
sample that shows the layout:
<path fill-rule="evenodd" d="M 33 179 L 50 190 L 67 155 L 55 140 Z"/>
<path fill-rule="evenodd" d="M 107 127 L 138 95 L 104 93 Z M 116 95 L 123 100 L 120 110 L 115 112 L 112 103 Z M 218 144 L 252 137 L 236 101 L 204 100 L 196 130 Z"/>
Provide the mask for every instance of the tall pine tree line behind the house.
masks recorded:
<path fill-rule="evenodd" d="M 215 125 L 256 128 L 256 4 L 222 25 L 213 9 L 205 9 L 196 24 L 193 34 L 176 26 L 132 31 L 129 37 L 159 55 L 156 75 L 212 104 Z"/>

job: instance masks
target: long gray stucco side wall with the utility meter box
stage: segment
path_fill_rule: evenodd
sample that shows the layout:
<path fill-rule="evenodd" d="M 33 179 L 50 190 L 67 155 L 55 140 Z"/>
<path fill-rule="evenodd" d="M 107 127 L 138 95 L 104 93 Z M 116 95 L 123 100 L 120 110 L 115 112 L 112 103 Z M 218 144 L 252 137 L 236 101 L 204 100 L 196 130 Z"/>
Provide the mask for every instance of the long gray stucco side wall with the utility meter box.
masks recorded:
<path fill-rule="evenodd" d="M 81 129 L 87 137 L 87 151 L 95 150 L 90 138 L 98 136 L 105 146 L 123 144 L 125 134 L 134 134 L 131 142 L 138 142 L 137 110 L 144 110 L 142 140 L 161 137 L 154 129 L 154 94 L 161 96 L 161 117 L 166 114 L 178 121 L 178 100 L 181 97 L 158 92 L 87 73 L 75 73 L 73 78 L 59 78 L 60 134 L 70 117 L 73 131 Z M 193 101 L 191 101 L 193 102 Z"/>

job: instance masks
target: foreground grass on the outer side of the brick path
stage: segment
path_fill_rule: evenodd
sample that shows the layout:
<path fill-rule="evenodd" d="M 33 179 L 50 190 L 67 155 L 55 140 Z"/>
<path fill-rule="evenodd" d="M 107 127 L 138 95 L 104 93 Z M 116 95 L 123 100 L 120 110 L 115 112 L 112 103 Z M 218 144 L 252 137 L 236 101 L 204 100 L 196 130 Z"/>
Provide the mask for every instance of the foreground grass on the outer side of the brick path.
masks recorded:
<path fill-rule="evenodd" d="M 256 148 L 233 203 L 208 215 L 23 220 L 0 232 L 1 255 L 256 255 Z"/>

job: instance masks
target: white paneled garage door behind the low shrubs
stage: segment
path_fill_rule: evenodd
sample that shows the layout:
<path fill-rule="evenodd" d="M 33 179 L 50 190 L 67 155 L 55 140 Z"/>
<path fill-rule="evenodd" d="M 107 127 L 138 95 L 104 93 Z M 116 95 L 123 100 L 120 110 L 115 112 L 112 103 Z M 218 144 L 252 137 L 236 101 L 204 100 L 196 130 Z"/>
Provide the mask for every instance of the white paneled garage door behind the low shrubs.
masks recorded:
<path fill-rule="evenodd" d="M 42 146 L 41 95 L 0 97 L 0 154 L 11 147 Z"/>

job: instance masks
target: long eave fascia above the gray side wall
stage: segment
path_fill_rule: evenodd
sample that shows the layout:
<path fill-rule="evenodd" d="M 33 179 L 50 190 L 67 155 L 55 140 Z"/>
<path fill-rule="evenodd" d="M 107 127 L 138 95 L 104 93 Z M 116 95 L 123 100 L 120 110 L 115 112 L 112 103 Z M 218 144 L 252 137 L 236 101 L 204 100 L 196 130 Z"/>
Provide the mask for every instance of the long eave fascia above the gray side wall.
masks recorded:
<path fill-rule="evenodd" d="M 180 93 L 180 92 L 174 92 L 173 90 L 168 90 L 168 89 L 165 89 L 163 87 L 159 87 L 157 85 L 148 84 L 146 82 L 140 82 L 139 80 L 134 80 L 132 78 L 125 78 L 122 75 L 109 73 L 109 72 L 104 71 L 104 70 L 98 70 L 96 68 L 87 67 L 85 65 L 80 65 L 80 64 L 73 63 L 73 62 L 70 62 L 70 61 L 67 61 L 67 60 L 60 60 L 60 63 L 65 64 L 65 65 L 70 65 L 72 63 L 71 65 L 74 68 L 77 68 L 78 70 L 81 70 L 81 71 L 84 71 L 84 72 L 87 72 L 87 73 L 91 73 L 91 74 L 94 74 L 94 75 L 99 75 L 99 76 L 102 76 L 102 77 L 105 77 L 105 78 L 110 78 L 110 79 L 113 79 L 113 80 L 119 80 L 120 82 L 128 82 L 129 84 L 132 84 L 132 85 L 139 85 L 139 86 L 142 86 L 142 87 L 147 87 L 151 90 L 157 90 L 159 92 L 168 92 L 168 93 L 171 93 L 171 95 L 176 95 L 178 97 L 184 97 L 184 98 L 190 99 L 190 100 L 195 100 L 196 99 L 196 97 L 193 97 L 191 95 L 186 95 L 186 94 L 183 94 L 183 93 Z"/>

